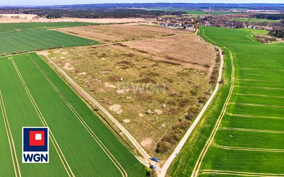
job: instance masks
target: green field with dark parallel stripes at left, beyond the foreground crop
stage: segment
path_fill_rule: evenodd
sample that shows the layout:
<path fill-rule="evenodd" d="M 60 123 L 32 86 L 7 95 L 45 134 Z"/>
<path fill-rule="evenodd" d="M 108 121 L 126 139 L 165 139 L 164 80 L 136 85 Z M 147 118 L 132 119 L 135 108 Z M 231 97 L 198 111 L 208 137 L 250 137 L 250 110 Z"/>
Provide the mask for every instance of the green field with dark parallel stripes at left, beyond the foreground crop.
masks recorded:
<path fill-rule="evenodd" d="M 96 45 L 97 41 L 51 30 L 0 33 L 0 54 L 44 50 L 50 47 Z"/>

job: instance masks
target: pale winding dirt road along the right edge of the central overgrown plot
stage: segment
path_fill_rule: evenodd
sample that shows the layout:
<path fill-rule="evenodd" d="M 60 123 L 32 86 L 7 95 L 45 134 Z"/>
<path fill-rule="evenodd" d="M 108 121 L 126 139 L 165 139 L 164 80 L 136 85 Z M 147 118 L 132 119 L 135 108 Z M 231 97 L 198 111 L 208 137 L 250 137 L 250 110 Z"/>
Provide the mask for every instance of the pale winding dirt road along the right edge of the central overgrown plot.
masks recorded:
<path fill-rule="evenodd" d="M 207 42 L 204 42 L 198 35 L 197 35 L 198 30 L 196 30 L 195 35 L 196 37 L 198 37 L 199 41 L 206 43 L 208 45 L 212 45 L 209 44 Z M 220 83 L 219 81 L 221 80 L 222 77 L 222 66 L 223 66 L 223 55 L 222 55 L 222 50 L 215 46 L 212 45 L 213 47 L 216 47 L 219 52 L 220 52 L 220 57 L 221 57 L 221 64 L 220 64 L 220 68 L 219 68 L 219 76 L 218 76 L 218 80 L 216 83 L 216 87 L 215 90 L 213 91 L 212 95 L 210 96 L 210 98 L 208 99 L 208 101 L 206 102 L 206 104 L 204 105 L 204 107 L 202 108 L 202 110 L 200 111 L 199 115 L 196 117 L 196 119 L 194 120 L 194 122 L 191 124 L 191 126 L 189 127 L 188 131 L 185 133 L 185 135 L 183 136 L 183 138 L 180 140 L 180 142 L 178 143 L 178 145 L 176 146 L 176 148 L 173 150 L 173 153 L 170 155 L 170 157 L 168 158 L 168 160 L 166 161 L 166 163 L 164 164 L 161 174 L 158 174 L 159 177 L 164 177 L 167 173 L 168 168 L 170 167 L 170 164 L 172 163 L 172 161 L 174 160 L 174 158 L 177 156 L 175 155 L 176 153 L 178 154 L 180 152 L 180 150 L 182 149 L 183 145 L 185 144 L 186 140 L 188 139 L 189 135 L 191 135 L 191 133 L 193 132 L 194 128 L 196 127 L 196 125 L 198 124 L 199 120 L 201 119 L 202 115 L 204 114 L 204 112 L 206 111 L 207 107 L 209 106 L 209 104 L 211 103 L 212 99 L 214 98 L 215 94 L 217 93 Z"/>

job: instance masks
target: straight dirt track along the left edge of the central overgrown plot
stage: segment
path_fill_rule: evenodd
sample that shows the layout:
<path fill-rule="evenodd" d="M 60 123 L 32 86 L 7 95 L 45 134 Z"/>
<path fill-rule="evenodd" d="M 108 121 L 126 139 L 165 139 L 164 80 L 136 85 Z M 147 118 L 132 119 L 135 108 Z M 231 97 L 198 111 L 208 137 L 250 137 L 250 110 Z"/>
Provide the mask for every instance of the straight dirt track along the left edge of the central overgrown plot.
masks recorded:
<path fill-rule="evenodd" d="M 91 95 L 89 95 L 84 89 L 82 89 L 75 81 L 72 80 L 72 78 L 70 76 L 67 75 L 67 73 L 65 73 L 54 61 L 52 61 L 47 55 L 45 55 L 42 52 L 38 52 L 38 54 L 41 54 L 43 56 L 45 56 L 65 77 L 68 81 L 70 81 L 78 90 L 80 90 L 82 92 L 82 94 L 84 94 L 88 99 L 90 99 L 93 104 L 95 104 L 96 106 L 99 107 L 99 109 L 101 109 L 104 114 L 106 114 L 107 117 L 109 117 L 114 124 L 116 124 L 116 126 L 125 134 L 125 136 L 131 141 L 131 143 L 135 146 L 135 148 L 139 151 L 139 153 L 141 153 L 141 155 L 145 158 L 145 160 L 152 164 L 155 165 L 156 169 L 157 169 L 157 174 L 160 173 L 161 168 L 159 167 L 159 164 L 150 160 L 151 156 L 141 147 L 141 145 L 135 140 L 135 138 L 125 129 L 125 127 L 123 127 L 120 122 L 118 122 L 113 116 L 112 114 L 110 114 L 103 106 L 101 106 L 99 104 L 99 102 L 97 102 L 95 99 L 93 99 L 93 97 L 91 97 Z M 138 159 L 139 160 L 139 159 Z"/>

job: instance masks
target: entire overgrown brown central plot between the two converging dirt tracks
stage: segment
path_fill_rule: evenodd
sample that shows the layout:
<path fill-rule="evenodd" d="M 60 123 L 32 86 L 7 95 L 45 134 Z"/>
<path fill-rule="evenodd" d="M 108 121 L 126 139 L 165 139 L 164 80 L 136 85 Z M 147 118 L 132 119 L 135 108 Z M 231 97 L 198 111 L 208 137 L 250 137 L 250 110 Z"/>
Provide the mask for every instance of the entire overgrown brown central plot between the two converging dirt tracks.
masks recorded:
<path fill-rule="evenodd" d="M 212 90 L 216 52 L 193 33 L 50 52 L 151 154 L 174 125 L 190 123 L 187 112 L 196 114 Z"/>

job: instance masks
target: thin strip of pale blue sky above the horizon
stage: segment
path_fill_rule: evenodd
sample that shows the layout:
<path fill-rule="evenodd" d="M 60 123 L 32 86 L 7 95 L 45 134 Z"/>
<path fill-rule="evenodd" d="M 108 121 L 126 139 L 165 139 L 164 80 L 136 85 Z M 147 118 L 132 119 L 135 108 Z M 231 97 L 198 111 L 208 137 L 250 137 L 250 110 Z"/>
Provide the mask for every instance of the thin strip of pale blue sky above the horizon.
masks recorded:
<path fill-rule="evenodd" d="M 183 2 L 183 3 L 284 3 L 284 0 L 9 0 L 10 5 L 69 5 L 69 4 L 99 4 L 99 3 L 149 3 L 149 2 Z M 1 5 L 8 4 L 0 0 Z"/>

